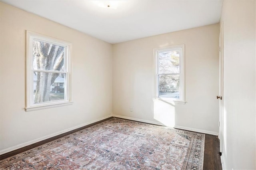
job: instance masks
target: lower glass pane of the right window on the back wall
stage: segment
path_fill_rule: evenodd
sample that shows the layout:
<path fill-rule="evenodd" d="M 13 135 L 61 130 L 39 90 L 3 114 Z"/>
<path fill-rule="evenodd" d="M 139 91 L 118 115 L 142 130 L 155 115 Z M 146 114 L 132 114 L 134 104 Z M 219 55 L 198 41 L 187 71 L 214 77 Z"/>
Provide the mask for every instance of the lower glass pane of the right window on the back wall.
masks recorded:
<path fill-rule="evenodd" d="M 158 75 L 158 97 L 180 99 L 180 75 Z"/>

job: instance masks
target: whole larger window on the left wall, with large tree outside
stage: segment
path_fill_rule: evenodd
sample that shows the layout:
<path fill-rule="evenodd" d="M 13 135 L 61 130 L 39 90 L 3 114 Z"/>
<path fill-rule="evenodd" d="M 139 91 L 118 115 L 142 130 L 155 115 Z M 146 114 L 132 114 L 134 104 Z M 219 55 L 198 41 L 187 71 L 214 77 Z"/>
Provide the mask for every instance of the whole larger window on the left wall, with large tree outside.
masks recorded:
<path fill-rule="evenodd" d="M 27 31 L 26 111 L 72 104 L 71 44 Z"/>

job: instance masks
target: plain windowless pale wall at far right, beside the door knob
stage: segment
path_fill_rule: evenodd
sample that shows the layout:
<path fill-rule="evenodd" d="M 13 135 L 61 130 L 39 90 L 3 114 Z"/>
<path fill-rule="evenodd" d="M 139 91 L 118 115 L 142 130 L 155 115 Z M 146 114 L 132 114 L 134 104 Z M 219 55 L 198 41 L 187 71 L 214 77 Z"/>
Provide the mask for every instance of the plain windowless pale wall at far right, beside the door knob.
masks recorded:
<path fill-rule="evenodd" d="M 225 169 L 256 169 L 256 1 L 224 1 Z"/>

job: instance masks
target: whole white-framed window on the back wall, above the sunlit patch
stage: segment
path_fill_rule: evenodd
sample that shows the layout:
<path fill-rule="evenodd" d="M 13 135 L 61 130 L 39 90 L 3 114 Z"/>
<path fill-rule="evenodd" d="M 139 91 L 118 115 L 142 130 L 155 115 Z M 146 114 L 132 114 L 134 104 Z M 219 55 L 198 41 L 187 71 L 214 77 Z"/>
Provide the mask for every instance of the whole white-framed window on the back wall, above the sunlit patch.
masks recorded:
<path fill-rule="evenodd" d="M 157 99 L 185 102 L 184 44 L 154 49 Z"/>

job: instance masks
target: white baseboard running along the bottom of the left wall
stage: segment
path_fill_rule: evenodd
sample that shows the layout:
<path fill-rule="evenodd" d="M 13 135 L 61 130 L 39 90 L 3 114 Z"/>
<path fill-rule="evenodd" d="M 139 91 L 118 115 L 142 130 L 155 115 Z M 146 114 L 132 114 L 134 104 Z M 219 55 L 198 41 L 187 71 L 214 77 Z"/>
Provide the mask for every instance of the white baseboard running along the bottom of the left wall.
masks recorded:
<path fill-rule="evenodd" d="M 19 149 L 19 148 L 22 148 L 24 146 L 28 146 L 30 144 L 34 144 L 36 142 L 40 142 L 42 140 L 45 140 L 45 139 L 48 139 L 48 138 L 51 138 L 51 137 L 54 137 L 54 136 L 57 136 L 59 134 L 62 134 L 62 133 L 65 133 L 65 132 L 69 132 L 71 130 L 74 130 L 76 128 L 80 128 L 80 127 L 84 127 L 86 125 L 90 125 L 92 123 L 95 123 L 95 122 L 98 122 L 98 121 L 101 121 L 101 120 L 104 120 L 104 119 L 107 119 L 109 117 L 112 117 L 112 115 L 108 115 L 108 116 L 105 116 L 105 117 L 102 117 L 100 119 L 96 119 L 96 120 L 93 120 L 93 121 L 90 121 L 90 122 L 87 122 L 87 123 L 84 123 L 84 124 L 81 124 L 81 125 L 78 125 L 78 126 L 75 126 L 75 127 L 72 127 L 72 128 L 68 128 L 68 129 L 65 129 L 65 130 L 61 130 L 59 132 L 56 132 L 56 133 L 52 133 L 52 134 L 49 134 L 49 135 L 46 135 L 46 136 L 43 136 L 41 138 L 37 138 L 37 139 L 34 139 L 34 140 L 30 140 L 28 142 L 24 142 L 22 144 L 18 144 L 16 146 L 12 146 L 12 147 L 9 147 L 9 148 L 6 148 L 6 149 L 3 149 L 3 150 L 0 150 L 0 155 L 1 154 L 5 154 L 7 152 L 11 152 L 13 150 L 16 150 L 16 149 Z"/>

